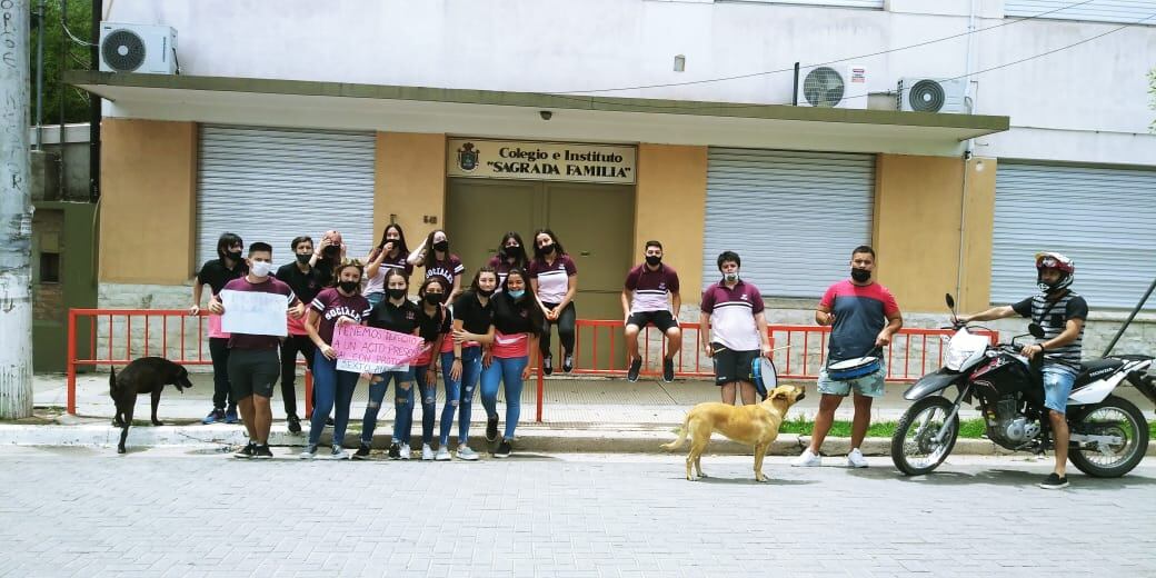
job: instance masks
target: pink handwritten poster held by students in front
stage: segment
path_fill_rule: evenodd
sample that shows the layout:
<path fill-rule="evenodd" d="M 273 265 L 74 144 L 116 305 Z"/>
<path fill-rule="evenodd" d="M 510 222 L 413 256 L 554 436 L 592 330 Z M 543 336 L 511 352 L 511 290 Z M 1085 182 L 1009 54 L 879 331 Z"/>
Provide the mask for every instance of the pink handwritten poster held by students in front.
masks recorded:
<path fill-rule="evenodd" d="M 338 370 L 358 373 L 403 371 L 422 350 L 422 338 L 355 324 L 333 329 Z"/>

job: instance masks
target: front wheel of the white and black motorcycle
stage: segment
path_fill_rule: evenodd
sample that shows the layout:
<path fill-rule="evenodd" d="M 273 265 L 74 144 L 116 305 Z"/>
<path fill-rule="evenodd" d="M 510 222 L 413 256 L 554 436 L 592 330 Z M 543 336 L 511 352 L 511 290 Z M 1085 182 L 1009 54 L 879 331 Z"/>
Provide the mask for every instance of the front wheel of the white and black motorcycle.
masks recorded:
<path fill-rule="evenodd" d="M 947 438 L 936 444 L 934 437 L 951 414 L 951 402 L 932 395 L 914 402 L 899 418 L 891 436 L 891 461 L 904 475 L 924 475 L 938 468 L 955 447 L 959 436 L 959 417 L 954 416 Z"/>

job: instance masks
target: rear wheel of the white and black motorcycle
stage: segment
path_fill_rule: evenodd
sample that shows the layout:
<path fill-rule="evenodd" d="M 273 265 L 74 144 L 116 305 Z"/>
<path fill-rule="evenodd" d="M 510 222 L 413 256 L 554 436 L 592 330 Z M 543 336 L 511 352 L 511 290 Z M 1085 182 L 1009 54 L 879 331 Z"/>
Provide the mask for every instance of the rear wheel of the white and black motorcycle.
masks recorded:
<path fill-rule="evenodd" d="M 1068 422 L 1073 432 L 1118 436 L 1121 443 L 1105 447 L 1073 447 L 1068 459 L 1094 477 L 1120 477 L 1140 464 L 1148 451 L 1148 420 L 1131 401 L 1109 395 Z"/>

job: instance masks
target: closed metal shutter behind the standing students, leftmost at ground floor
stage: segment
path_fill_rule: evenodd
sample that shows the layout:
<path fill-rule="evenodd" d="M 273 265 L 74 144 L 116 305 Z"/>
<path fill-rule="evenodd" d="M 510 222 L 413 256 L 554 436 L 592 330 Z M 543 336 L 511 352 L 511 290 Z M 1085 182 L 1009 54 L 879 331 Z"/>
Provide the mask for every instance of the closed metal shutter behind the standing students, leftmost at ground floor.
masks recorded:
<path fill-rule="evenodd" d="M 273 245 L 274 262 L 292 260 L 289 243 L 320 243 L 341 231 L 347 257 L 373 243 L 373 133 L 202 126 L 198 173 L 198 266 L 216 258 L 222 232 Z"/>

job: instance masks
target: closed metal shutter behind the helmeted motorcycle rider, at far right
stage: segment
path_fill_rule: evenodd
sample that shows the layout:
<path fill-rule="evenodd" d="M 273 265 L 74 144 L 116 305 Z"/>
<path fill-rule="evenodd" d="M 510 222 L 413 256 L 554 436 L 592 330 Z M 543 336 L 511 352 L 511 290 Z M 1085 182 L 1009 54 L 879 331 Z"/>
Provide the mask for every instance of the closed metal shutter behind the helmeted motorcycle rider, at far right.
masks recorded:
<path fill-rule="evenodd" d="M 1035 254 L 1059 251 L 1091 307 L 1136 305 L 1156 275 L 1156 171 L 1011 161 L 998 171 L 992 303 L 1035 292 Z"/>

